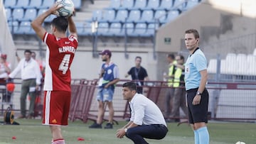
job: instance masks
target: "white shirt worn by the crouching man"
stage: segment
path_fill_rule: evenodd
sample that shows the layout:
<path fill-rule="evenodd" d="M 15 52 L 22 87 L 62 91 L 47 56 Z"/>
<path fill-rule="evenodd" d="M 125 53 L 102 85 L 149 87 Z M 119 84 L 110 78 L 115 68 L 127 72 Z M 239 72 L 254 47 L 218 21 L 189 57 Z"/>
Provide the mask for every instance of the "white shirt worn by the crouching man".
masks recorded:
<path fill-rule="evenodd" d="M 137 125 L 163 124 L 167 127 L 159 107 L 143 94 L 135 94 L 129 104 L 132 109 L 130 120 L 133 123 Z"/>

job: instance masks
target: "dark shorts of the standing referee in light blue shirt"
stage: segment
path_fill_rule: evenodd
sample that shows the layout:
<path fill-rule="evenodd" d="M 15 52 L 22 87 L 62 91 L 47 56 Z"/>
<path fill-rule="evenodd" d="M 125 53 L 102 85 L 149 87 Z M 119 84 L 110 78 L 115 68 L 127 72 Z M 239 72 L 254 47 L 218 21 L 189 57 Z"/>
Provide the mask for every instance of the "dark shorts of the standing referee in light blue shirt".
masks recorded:
<path fill-rule="evenodd" d="M 200 123 L 205 122 L 208 123 L 208 101 L 209 101 L 209 94 L 207 89 L 203 90 L 201 95 L 201 101 L 198 105 L 193 105 L 193 98 L 196 96 L 196 89 L 189 89 L 187 90 L 187 101 L 188 101 L 188 121 L 189 123 Z"/>

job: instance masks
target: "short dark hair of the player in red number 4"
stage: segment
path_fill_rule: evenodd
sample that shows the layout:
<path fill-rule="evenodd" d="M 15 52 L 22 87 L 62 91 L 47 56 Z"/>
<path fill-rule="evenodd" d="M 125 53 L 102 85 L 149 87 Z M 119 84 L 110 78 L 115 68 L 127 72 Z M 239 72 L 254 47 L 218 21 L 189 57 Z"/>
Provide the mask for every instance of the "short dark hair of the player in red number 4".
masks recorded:
<path fill-rule="evenodd" d="M 51 24 L 55 26 L 58 31 L 61 31 L 64 33 L 67 31 L 68 20 L 63 16 L 57 16 L 56 18 L 53 18 L 53 21 L 51 22 Z"/>

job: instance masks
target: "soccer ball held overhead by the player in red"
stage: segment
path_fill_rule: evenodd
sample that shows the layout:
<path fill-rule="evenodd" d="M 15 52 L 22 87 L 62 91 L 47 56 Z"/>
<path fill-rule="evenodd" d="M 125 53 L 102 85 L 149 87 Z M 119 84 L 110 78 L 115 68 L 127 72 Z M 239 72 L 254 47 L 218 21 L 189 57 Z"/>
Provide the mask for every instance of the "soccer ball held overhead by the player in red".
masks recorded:
<path fill-rule="evenodd" d="M 68 17 L 68 16 L 71 16 L 73 14 L 73 11 L 74 11 L 73 1 L 71 1 L 71 0 L 58 0 L 56 2 L 58 4 L 63 5 L 62 8 L 57 10 L 57 15 L 58 16 Z"/>

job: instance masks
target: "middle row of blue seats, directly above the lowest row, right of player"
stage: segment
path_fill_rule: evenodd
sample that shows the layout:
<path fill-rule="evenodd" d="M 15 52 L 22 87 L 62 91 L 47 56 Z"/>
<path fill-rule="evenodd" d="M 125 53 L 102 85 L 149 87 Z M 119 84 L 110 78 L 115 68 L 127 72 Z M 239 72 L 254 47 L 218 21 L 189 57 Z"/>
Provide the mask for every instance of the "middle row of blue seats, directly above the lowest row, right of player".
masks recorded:
<path fill-rule="evenodd" d="M 108 23 L 155 23 L 159 20 L 160 23 L 167 23 L 176 18 L 180 11 L 171 10 L 168 11 L 166 16 L 165 10 L 152 11 L 152 10 L 118 10 L 115 12 L 112 9 L 109 10 L 96 10 L 92 13 L 92 19 L 90 21 L 108 22 Z"/>

